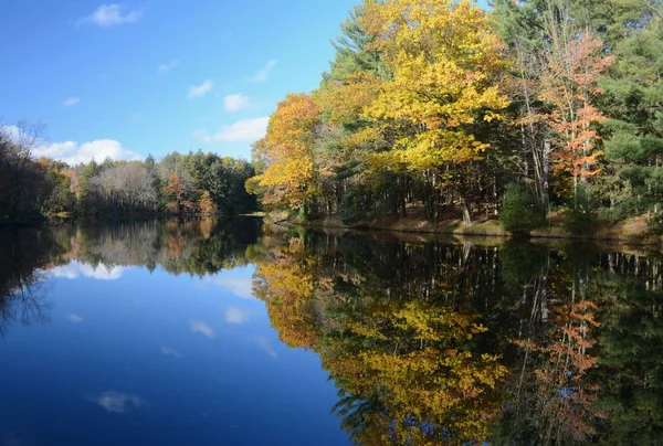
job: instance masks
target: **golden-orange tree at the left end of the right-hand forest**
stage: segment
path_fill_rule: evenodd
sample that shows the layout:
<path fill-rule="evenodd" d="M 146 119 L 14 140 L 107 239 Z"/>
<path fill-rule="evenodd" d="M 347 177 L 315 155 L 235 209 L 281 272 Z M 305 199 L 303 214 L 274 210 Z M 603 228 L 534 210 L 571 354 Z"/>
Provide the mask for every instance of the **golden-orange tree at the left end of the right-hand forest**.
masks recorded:
<path fill-rule="evenodd" d="M 316 190 L 313 146 L 320 110 L 306 94 L 291 94 L 270 117 L 267 135 L 259 141 L 264 171 L 248 182 L 263 189 L 264 204 L 303 209 Z"/>

